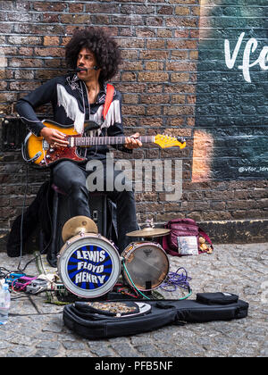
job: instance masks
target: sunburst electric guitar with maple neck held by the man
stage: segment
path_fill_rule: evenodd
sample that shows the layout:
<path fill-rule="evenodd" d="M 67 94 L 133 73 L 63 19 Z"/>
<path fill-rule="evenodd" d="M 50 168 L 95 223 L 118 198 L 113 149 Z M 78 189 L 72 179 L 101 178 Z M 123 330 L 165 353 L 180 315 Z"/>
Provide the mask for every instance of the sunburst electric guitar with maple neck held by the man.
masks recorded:
<path fill-rule="evenodd" d="M 25 161 L 32 162 L 38 168 L 52 166 L 55 162 L 71 160 L 73 162 L 85 162 L 85 158 L 77 153 L 78 147 L 90 147 L 96 145 L 124 145 L 126 137 L 81 137 L 72 125 L 63 126 L 54 121 L 43 121 L 48 128 L 63 132 L 69 142 L 68 146 L 52 146 L 43 137 L 36 137 L 29 133 L 24 140 L 21 151 Z M 186 141 L 183 137 L 169 137 L 161 134 L 156 136 L 140 136 L 138 139 L 144 143 L 155 143 L 166 148 L 179 146 L 184 148 Z"/>

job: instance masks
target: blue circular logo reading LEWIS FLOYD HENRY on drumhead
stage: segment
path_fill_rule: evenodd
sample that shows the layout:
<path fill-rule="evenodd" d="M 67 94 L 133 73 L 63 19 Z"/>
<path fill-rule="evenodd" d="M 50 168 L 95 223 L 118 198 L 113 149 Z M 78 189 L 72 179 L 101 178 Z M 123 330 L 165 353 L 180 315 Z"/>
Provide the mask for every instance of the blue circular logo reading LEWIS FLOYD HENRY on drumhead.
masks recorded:
<path fill-rule="evenodd" d="M 82 289 L 103 287 L 113 272 L 113 262 L 105 249 L 96 245 L 81 246 L 69 257 L 67 273 L 71 282 Z"/>

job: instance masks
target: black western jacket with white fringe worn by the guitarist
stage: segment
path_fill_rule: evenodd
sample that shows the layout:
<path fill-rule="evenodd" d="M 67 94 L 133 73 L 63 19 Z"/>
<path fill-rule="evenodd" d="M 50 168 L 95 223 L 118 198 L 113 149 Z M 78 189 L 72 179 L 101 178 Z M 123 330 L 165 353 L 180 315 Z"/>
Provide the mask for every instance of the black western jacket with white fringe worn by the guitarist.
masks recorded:
<path fill-rule="evenodd" d="M 21 98 L 16 110 L 21 121 L 26 123 L 29 130 L 39 136 L 45 125 L 37 117 L 35 110 L 43 104 L 52 104 L 54 121 L 62 125 L 74 125 L 80 133 L 84 133 L 84 124 L 88 125 L 89 136 L 123 136 L 121 119 L 121 93 L 114 90 L 113 102 L 104 120 L 103 108 L 106 96 L 106 84 L 102 85 L 95 104 L 89 104 L 85 82 L 76 74 L 57 77 L 48 80 L 44 85 L 32 91 L 28 96 Z M 89 122 L 90 121 L 90 122 Z M 93 126 L 93 122 L 95 125 Z M 89 132 L 89 134 L 88 134 Z M 114 146 L 116 149 L 131 153 L 124 146 Z M 109 151 L 107 146 L 92 146 L 87 151 L 88 159 L 105 159 Z"/>

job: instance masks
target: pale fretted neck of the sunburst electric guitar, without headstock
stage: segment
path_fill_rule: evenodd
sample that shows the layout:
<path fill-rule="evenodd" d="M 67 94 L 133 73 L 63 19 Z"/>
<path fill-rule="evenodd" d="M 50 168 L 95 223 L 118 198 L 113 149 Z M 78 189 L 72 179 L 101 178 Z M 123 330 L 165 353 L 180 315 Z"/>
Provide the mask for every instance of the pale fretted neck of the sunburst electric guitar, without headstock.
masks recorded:
<path fill-rule="evenodd" d="M 69 145 L 72 146 L 99 146 L 99 145 L 124 145 L 127 137 L 67 137 Z M 142 143 L 154 143 L 155 136 L 140 136 Z"/>

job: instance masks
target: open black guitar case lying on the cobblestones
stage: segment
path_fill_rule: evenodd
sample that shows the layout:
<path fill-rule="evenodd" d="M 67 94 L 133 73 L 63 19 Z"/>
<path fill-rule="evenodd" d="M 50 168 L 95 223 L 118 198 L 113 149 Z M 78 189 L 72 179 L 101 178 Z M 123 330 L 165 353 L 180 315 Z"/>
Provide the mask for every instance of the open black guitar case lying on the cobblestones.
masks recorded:
<path fill-rule="evenodd" d="M 136 335 L 168 324 L 241 319 L 247 310 L 239 296 L 197 293 L 196 300 L 75 302 L 64 306 L 63 322 L 81 337 L 94 339 Z"/>

